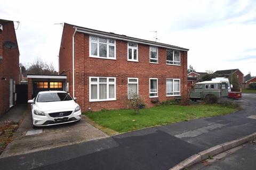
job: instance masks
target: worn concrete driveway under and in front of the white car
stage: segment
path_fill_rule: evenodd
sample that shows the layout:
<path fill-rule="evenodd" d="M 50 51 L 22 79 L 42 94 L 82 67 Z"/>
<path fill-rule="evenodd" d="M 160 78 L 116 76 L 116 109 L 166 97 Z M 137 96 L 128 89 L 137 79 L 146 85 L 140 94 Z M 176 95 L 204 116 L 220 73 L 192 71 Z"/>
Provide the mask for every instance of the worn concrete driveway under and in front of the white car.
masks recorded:
<path fill-rule="evenodd" d="M 108 137 L 107 134 L 87 123 L 84 115 L 80 122 L 33 129 L 30 111 L 25 112 L 25 118 L 13 141 L 5 148 L 0 158 Z"/>

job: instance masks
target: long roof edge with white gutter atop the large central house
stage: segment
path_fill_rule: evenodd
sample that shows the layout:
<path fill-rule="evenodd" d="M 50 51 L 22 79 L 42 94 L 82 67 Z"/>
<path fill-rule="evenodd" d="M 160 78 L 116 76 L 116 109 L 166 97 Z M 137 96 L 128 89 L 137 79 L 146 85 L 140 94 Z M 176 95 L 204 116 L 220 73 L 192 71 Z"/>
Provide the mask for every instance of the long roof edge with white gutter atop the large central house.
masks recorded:
<path fill-rule="evenodd" d="M 77 25 L 69 24 L 69 23 L 65 23 L 65 24 L 73 26 L 79 32 L 89 33 L 91 35 L 100 35 L 100 36 L 105 36 L 105 37 L 112 37 L 112 38 L 115 38 L 115 39 L 127 40 L 127 41 L 131 41 L 131 42 L 135 42 L 135 43 L 138 42 L 140 44 L 149 44 L 149 45 L 155 45 L 155 46 L 165 47 L 165 48 L 173 48 L 173 49 L 178 49 L 178 50 L 183 50 L 183 51 L 188 51 L 189 50 L 188 48 L 173 46 L 173 45 L 170 45 L 170 44 L 158 43 L 156 41 L 134 38 L 134 37 L 126 36 L 126 35 L 119 35 L 119 34 L 113 33 L 113 32 L 105 32 L 105 31 L 94 30 L 94 29 L 90 29 L 90 28 L 85 28 L 85 27 L 80 27 L 80 26 L 77 26 Z"/>

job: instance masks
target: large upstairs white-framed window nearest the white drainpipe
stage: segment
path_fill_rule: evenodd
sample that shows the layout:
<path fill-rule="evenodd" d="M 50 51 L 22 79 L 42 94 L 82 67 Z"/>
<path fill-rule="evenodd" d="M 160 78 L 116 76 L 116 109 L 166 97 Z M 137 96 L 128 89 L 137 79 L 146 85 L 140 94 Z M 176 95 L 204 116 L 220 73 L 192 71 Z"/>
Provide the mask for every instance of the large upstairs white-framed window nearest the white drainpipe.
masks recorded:
<path fill-rule="evenodd" d="M 116 59 L 116 41 L 114 39 L 90 36 L 90 57 Z"/>

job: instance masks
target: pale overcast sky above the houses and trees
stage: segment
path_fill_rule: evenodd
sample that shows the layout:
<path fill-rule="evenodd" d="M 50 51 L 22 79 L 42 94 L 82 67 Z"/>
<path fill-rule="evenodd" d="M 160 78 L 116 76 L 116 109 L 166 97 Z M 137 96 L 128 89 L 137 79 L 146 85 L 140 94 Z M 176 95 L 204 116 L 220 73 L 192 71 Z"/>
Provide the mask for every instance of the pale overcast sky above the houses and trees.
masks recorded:
<path fill-rule="evenodd" d="M 0 18 L 20 21 L 20 62 L 37 56 L 58 69 L 61 25 L 115 32 L 189 48 L 198 72 L 256 75 L 256 1 L 1 1 Z M 15 24 L 17 26 L 17 24 Z"/>

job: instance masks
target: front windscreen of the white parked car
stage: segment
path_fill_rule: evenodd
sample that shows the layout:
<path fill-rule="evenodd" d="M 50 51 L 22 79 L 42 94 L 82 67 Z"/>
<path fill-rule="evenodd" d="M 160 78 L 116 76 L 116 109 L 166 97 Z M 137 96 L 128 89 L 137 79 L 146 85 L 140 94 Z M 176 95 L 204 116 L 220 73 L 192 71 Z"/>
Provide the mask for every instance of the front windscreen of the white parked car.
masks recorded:
<path fill-rule="evenodd" d="M 65 92 L 51 92 L 46 94 L 39 94 L 37 102 L 51 102 L 51 101 L 68 101 L 72 98 Z"/>

